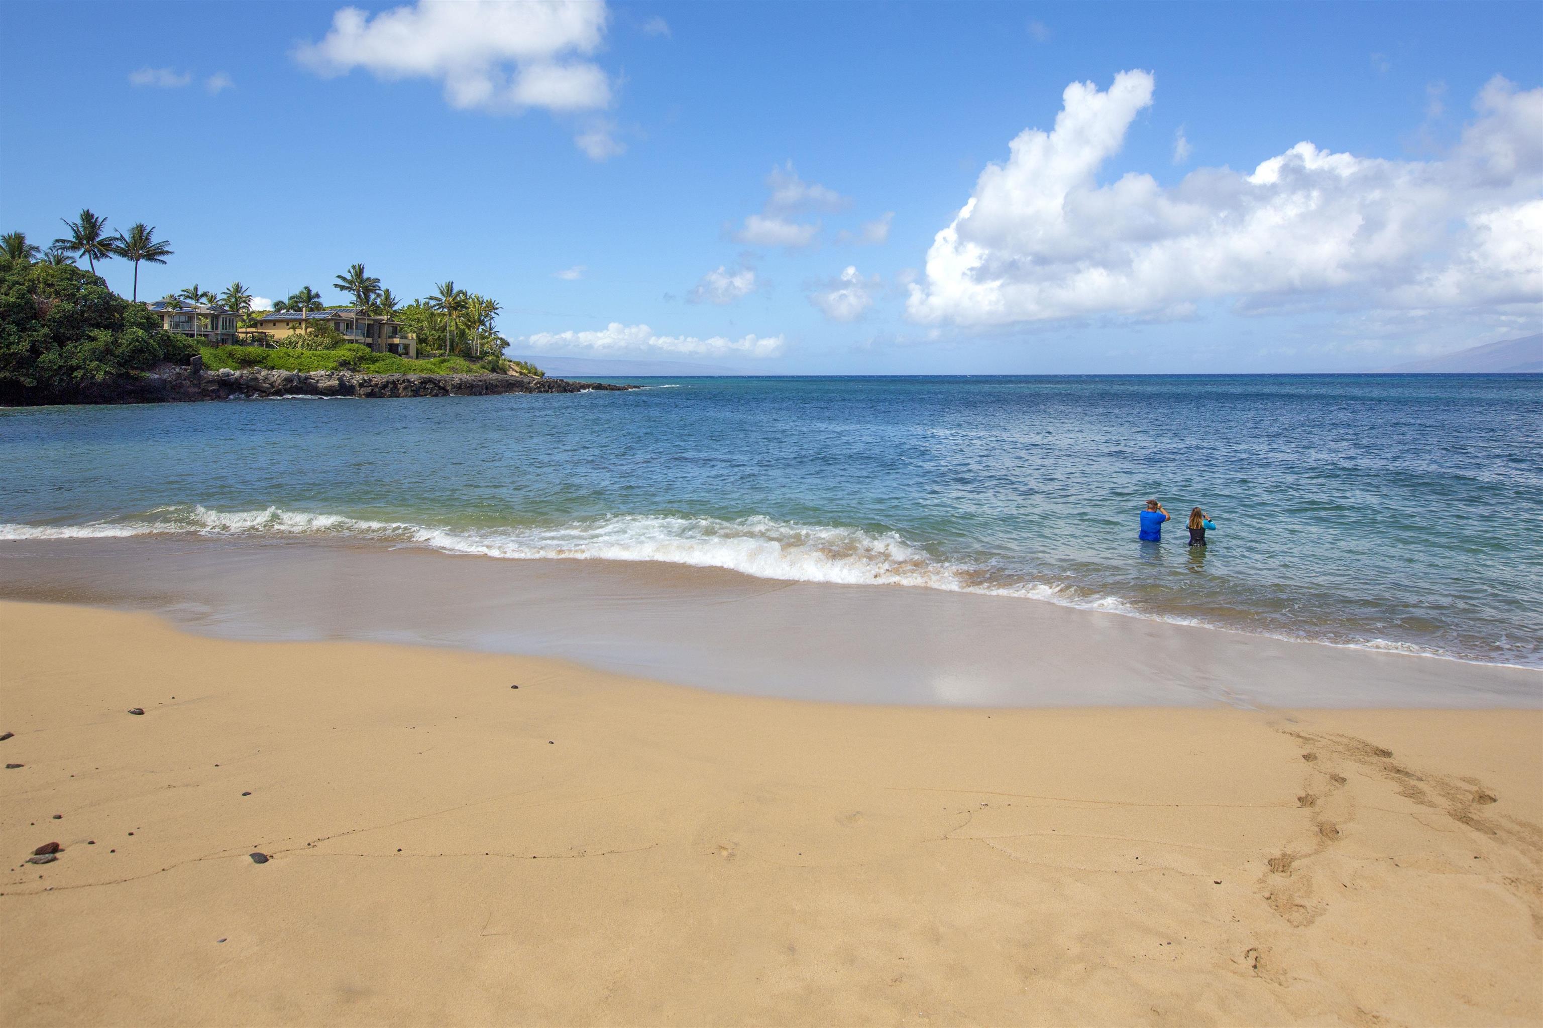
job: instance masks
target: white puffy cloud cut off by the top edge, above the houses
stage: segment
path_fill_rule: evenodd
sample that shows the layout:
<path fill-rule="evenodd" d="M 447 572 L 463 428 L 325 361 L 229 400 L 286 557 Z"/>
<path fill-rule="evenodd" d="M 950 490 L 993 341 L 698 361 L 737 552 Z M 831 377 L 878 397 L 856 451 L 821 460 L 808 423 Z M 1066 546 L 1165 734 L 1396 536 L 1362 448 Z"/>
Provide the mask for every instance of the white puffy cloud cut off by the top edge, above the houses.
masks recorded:
<path fill-rule="evenodd" d="M 609 77 L 588 60 L 606 17 L 603 0 L 418 0 L 375 15 L 343 8 L 295 55 L 321 76 L 363 68 L 387 80 L 430 79 L 458 109 L 594 111 L 611 103 Z M 596 139 L 585 133 L 579 145 L 611 156 Z"/>

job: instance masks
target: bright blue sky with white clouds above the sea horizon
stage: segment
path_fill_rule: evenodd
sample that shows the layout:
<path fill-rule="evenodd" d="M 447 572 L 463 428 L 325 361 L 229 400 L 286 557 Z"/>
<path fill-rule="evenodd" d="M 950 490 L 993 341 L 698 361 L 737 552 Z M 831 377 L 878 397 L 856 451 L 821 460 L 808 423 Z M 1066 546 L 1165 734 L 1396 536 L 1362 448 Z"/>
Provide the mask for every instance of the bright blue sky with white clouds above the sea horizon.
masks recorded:
<path fill-rule="evenodd" d="M 151 223 L 148 296 L 341 302 L 364 262 L 500 299 L 511 353 L 765 373 L 1355 370 L 1543 322 L 1543 5 L 339 11 L 8 0 L 0 228 Z"/>

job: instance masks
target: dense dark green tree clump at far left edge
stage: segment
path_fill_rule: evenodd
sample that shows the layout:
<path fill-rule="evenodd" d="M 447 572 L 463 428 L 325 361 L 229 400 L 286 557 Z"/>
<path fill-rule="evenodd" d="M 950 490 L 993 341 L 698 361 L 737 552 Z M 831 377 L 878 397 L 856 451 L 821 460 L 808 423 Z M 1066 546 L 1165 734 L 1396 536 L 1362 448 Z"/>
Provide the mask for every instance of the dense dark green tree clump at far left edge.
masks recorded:
<path fill-rule="evenodd" d="M 0 399 L 68 393 L 164 361 L 187 364 L 194 353 L 93 273 L 0 256 Z"/>

